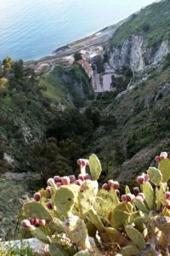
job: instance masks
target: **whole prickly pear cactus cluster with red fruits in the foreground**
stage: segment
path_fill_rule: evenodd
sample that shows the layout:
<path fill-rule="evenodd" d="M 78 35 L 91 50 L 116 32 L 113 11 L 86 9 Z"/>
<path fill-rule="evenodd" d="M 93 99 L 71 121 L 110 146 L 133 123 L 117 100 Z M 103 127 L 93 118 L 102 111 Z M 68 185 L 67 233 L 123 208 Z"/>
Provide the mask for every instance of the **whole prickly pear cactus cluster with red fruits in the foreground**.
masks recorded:
<path fill-rule="evenodd" d="M 77 160 L 77 178 L 49 178 L 47 188 L 26 201 L 22 225 L 48 243 L 52 256 L 169 255 L 170 159 L 162 152 L 156 161 L 157 168 L 150 167 L 136 178 L 137 187 L 126 186 L 121 195 L 114 180 L 99 189 L 101 166 L 95 154 L 89 160 Z M 101 197 L 102 191 L 105 196 Z M 99 207 L 105 204 L 110 209 L 104 209 L 103 218 Z"/>

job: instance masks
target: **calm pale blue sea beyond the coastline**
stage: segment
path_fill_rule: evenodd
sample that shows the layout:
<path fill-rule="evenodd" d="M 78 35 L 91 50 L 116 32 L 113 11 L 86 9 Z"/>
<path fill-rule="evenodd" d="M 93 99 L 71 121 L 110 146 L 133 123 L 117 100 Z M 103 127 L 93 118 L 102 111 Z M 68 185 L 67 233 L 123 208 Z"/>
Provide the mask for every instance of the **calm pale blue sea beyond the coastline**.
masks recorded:
<path fill-rule="evenodd" d="M 112 25 L 153 0 L 0 0 L 0 60 L 25 61 Z"/>

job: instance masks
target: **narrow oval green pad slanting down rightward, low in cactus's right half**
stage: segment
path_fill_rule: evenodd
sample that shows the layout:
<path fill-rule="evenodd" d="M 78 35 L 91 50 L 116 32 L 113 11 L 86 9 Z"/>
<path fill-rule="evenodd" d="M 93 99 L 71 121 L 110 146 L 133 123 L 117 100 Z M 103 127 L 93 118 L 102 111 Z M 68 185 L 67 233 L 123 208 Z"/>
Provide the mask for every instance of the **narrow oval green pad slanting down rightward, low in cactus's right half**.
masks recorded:
<path fill-rule="evenodd" d="M 127 236 L 133 241 L 133 244 L 137 246 L 140 250 L 143 250 L 145 247 L 145 241 L 143 235 L 139 232 L 139 230 L 136 230 L 131 225 L 125 226 L 125 230 Z"/>

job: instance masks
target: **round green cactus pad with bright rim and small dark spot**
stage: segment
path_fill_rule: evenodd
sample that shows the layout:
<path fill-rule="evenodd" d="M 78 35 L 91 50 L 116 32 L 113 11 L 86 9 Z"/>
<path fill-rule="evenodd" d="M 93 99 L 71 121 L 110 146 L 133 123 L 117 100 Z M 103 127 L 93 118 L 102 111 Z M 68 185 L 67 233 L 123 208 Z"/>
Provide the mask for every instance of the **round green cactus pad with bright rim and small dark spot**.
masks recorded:
<path fill-rule="evenodd" d="M 54 210 L 60 215 L 67 216 L 71 213 L 75 204 L 75 195 L 68 186 L 62 186 L 57 189 L 53 196 Z"/>

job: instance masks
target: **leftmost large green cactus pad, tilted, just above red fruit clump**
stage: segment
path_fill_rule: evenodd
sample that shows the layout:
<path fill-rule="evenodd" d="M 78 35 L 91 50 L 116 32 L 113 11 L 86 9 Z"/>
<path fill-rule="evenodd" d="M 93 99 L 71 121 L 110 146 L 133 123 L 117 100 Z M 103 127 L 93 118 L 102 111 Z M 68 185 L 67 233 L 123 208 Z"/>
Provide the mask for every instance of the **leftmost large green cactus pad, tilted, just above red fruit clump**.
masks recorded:
<path fill-rule="evenodd" d="M 46 210 L 45 207 L 42 206 L 41 203 L 37 201 L 29 201 L 24 204 L 23 207 L 24 214 L 29 218 L 39 218 L 50 220 L 51 216 Z"/>

